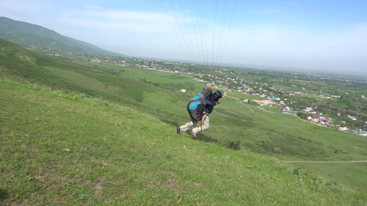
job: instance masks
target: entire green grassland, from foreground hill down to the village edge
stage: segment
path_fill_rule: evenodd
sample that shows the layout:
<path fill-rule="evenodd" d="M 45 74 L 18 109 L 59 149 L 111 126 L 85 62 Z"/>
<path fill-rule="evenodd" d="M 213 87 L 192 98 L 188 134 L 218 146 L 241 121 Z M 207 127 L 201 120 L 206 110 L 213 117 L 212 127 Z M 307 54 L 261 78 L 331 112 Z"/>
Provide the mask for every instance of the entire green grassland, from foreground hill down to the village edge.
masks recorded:
<path fill-rule="evenodd" d="M 367 163 L 281 162 L 364 161 L 364 137 L 229 92 L 195 141 L 176 127 L 201 82 L 0 43 L 6 205 L 367 203 Z"/>

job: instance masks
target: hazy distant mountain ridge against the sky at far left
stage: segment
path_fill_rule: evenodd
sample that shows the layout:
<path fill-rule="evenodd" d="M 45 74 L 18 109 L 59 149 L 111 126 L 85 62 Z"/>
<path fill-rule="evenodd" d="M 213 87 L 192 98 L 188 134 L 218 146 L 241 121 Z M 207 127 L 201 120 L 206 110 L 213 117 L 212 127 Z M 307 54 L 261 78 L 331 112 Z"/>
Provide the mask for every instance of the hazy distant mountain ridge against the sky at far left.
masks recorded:
<path fill-rule="evenodd" d="M 25 23 L 22 21 L 14 21 L 1 16 L 0 38 L 4 38 L 19 45 L 34 45 L 61 50 L 62 52 L 126 56 L 125 54 L 108 52 L 91 45 L 90 43 L 85 43 L 74 38 L 63 36 L 39 25 Z"/>

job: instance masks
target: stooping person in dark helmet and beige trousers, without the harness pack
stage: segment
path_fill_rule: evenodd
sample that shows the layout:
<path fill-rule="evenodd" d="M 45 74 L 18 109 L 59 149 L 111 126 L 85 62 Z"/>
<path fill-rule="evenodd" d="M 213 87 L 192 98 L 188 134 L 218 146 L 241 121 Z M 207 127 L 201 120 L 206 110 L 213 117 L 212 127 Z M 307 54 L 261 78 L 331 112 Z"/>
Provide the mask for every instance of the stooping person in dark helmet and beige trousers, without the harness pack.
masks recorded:
<path fill-rule="evenodd" d="M 200 127 L 193 128 L 193 130 L 190 131 L 190 134 L 194 139 L 196 139 L 196 134 L 209 128 L 209 114 L 213 112 L 214 106 L 220 103 L 220 101 L 218 101 L 220 98 L 222 98 L 222 93 L 220 91 L 216 91 L 205 99 L 205 111 L 202 115 L 202 124 L 200 125 Z M 189 130 L 189 128 L 191 128 L 192 126 L 196 125 L 198 122 L 200 122 L 200 120 L 196 121 L 194 119 L 191 119 L 191 121 L 187 122 L 187 124 L 179 126 L 177 128 L 177 133 L 180 135 L 186 130 Z"/>

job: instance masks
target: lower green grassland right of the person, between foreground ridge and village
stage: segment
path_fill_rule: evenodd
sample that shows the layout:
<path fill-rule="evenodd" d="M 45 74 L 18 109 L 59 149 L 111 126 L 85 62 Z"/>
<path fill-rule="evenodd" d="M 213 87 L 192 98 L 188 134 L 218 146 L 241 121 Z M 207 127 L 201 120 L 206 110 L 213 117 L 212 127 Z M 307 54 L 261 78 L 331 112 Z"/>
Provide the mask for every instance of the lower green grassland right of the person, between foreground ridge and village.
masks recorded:
<path fill-rule="evenodd" d="M 253 152 L 277 159 L 353 161 L 366 160 L 367 157 L 364 137 L 304 122 L 294 116 L 265 112 L 258 106 L 231 98 L 222 100 L 211 119 L 215 119 L 211 120 L 214 128 L 205 132 L 208 139 L 240 141 L 241 146 Z M 281 152 L 273 152 L 274 148 L 280 148 Z M 302 165 L 308 168 L 308 163 Z M 328 167 L 328 164 L 319 163 L 310 166 L 310 169 L 322 174 L 328 171 L 328 176 L 334 181 L 367 190 L 366 184 L 361 181 L 366 173 L 355 172 L 366 170 L 366 163 L 339 164 L 337 170 L 328 170 Z"/>

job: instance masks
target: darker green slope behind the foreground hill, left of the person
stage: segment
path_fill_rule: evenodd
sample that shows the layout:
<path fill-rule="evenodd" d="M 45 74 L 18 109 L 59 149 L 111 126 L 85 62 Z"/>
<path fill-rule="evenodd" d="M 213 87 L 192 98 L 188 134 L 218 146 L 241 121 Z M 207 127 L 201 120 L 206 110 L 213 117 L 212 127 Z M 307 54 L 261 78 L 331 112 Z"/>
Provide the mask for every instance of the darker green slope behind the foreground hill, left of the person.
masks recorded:
<path fill-rule="evenodd" d="M 67 58 L 33 52 L 0 38 L 0 69 L 3 73 L 22 81 L 45 84 L 52 89 L 85 93 L 112 102 L 135 106 L 147 113 L 154 110 L 143 104 L 147 95 L 167 97 L 172 101 L 181 99 L 176 93 L 153 88 L 140 80 L 116 76 L 116 72 L 96 65 L 81 65 Z M 114 66 L 116 67 L 116 66 Z M 120 68 L 118 68 L 120 69 Z M 114 75 L 112 75 L 114 74 Z M 165 94 L 166 93 L 166 94 Z M 169 117 L 165 117 L 169 119 Z"/>

